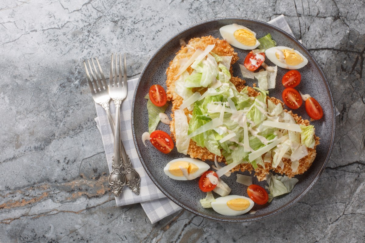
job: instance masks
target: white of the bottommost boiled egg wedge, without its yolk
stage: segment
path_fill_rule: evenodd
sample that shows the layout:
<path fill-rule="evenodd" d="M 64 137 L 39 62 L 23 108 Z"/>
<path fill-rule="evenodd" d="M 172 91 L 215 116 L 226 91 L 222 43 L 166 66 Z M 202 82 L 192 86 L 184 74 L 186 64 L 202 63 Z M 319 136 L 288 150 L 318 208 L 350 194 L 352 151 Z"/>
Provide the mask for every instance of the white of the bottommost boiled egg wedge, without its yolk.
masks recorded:
<path fill-rule="evenodd" d="M 249 200 L 250 206 L 248 208 L 246 208 L 245 210 L 241 210 L 241 211 L 236 211 L 236 210 L 229 208 L 227 205 L 227 201 L 235 199 L 235 198 L 243 198 L 243 199 Z M 226 216 L 237 216 L 237 215 L 242 215 L 244 213 L 247 213 L 248 211 L 251 210 L 253 205 L 254 205 L 254 202 L 251 200 L 251 198 L 244 197 L 244 196 L 237 196 L 237 195 L 218 197 L 215 199 L 215 202 L 212 202 L 212 208 L 214 209 L 214 211 L 216 211 L 217 213 L 220 213 L 221 215 L 226 215 Z"/>

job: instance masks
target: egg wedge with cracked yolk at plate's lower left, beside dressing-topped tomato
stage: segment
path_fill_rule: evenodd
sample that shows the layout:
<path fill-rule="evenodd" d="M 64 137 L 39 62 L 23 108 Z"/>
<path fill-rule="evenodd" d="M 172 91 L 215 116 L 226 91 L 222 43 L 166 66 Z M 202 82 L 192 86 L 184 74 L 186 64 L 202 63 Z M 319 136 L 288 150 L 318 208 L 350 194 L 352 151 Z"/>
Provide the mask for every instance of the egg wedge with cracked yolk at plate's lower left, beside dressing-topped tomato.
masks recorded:
<path fill-rule="evenodd" d="M 210 166 L 207 163 L 198 159 L 180 158 L 167 163 L 164 172 L 174 180 L 186 181 L 199 177 L 209 168 Z"/>

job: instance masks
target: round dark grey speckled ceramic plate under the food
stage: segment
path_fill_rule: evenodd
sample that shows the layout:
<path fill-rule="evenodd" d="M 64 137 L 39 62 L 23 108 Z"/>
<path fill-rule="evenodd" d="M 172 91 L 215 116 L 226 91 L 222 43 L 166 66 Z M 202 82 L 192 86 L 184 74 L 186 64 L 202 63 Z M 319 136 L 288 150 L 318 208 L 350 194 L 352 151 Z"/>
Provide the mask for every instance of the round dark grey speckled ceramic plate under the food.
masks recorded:
<path fill-rule="evenodd" d="M 262 36 L 270 33 L 272 38 L 276 40 L 278 46 L 292 47 L 300 51 L 300 53 L 308 59 L 308 64 L 300 69 L 302 80 L 300 85 L 297 86 L 297 89 L 315 97 L 315 99 L 322 105 L 324 116 L 319 121 L 312 122 L 316 128 L 316 135 L 321 139 L 319 146 L 317 146 L 317 156 L 315 161 L 308 171 L 302 175 L 296 176 L 299 182 L 296 184 L 292 192 L 276 197 L 271 203 L 266 205 L 255 204 L 253 207 L 253 210 L 257 210 L 255 214 L 224 216 L 216 213 L 212 208 L 201 207 L 199 200 L 204 198 L 206 194 L 199 190 L 197 179 L 191 181 L 176 181 L 165 175 L 163 168 L 166 163 L 172 159 L 184 157 L 183 154 L 178 153 L 176 148 L 174 148 L 169 154 L 162 154 L 151 144 L 145 147 L 142 143 L 141 136 L 143 132 L 148 131 L 146 100 L 143 97 L 148 93 L 150 86 L 153 84 L 160 84 L 162 87 L 166 88 L 165 71 L 169 66 L 169 62 L 175 57 L 176 52 L 180 50 L 179 39 L 185 38 L 186 40 L 189 40 L 194 37 L 207 35 L 222 38 L 219 34 L 219 28 L 232 23 L 237 23 L 253 30 L 256 32 L 257 38 L 261 38 Z M 240 58 L 238 62 L 242 63 L 248 51 L 238 48 L 234 49 Z M 266 60 L 266 63 L 268 63 L 269 66 L 273 65 L 268 60 Z M 234 76 L 242 78 L 238 63 L 233 65 L 233 70 Z M 284 73 L 287 71 L 288 70 L 286 69 L 278 67 L 276 88 L 270 90 L 270 96 L 281 99 L 281 93 L 284 90 L 284 87 L 281 84 L 281 77 L 283 77 Z M 246 79 L 246 82 L 247 85 L 252 86 L 254 80 Z M 170 113 L 171 105 L 166 111 L 166 114 Z M 304 104 L 297 109 L 295 113 L 298 113 L 304 119 L 309 119 L 305 111 Z M 320 174 L 324 170 L 331 153 L 335 132 L 335 110 L 330 87 L 322 70 L 312 55 L 291 35 L 279 28 L 258 20 L 246 18 L 219 18 L 207 20 L 181 31 L 162 45 L 146 64 L 139 78 L 132 104 L 131 119 L 133 138 L 135 146 L 137 147 L 137 153 L 141 159 L 143 167 L 147 171 L 147 174 L 151 177 L 151 180 L 157 185 L 157 187 L 176 204 L 192 213 L 208 219 L 230 222 L 252 221 L 272 216 L 275 213 L 281 212 L 290 207 L 293 203 L 303 197 L 303 195 L 306 194 L 318 180 Z M 163 130 L 170 133 L 169 127 L 162 123 L 158 125 L 157 130 Z M 249 173 L 246 171 L 243 174 Z M 223 176 L 223 180 L 231 187 L 231 195 L 247 196 L 247 187 L 235 182 L 235 174 L 232 174 L 230 177 Z M 266 185 L 266 181 L 258 182 L 255 177 L 253 179 L 253 183 L 263 187 Z M 214 193 L 214 195 L 215 197 L 218 197 L 217 194 Z"/>

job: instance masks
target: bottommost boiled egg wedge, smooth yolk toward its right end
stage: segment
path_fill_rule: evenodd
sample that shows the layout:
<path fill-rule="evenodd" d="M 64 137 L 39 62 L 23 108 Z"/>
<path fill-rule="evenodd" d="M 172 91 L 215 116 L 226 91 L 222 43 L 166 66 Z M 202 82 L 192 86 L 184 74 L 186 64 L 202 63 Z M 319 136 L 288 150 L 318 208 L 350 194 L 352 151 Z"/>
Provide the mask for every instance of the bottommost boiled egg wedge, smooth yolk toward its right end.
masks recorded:
<path fill-rule="evenodd" d="M 251 198 L 237 195 L 218 197 L 215 199 L 215 202 L 212 202 L 214 211 L 226 216 L 237 216 L 247 213 L 253 205 L 254 202 Z"/>

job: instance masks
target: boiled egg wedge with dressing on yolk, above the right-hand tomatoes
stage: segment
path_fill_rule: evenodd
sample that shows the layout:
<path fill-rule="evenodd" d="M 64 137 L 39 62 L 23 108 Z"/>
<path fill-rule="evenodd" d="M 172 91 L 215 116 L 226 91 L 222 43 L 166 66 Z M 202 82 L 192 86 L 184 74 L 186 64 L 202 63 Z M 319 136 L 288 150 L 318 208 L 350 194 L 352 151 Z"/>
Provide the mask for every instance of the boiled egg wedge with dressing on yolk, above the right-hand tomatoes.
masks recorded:
<path fill-rule="evenodd" d="M 271 47 L 265 54 L 272 63 L 286 69 L 299 69 L 308 63 L 308 59 L 299 51 L 286 46 Z"/>

